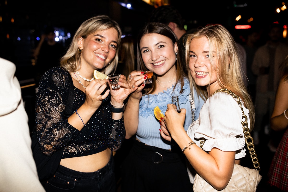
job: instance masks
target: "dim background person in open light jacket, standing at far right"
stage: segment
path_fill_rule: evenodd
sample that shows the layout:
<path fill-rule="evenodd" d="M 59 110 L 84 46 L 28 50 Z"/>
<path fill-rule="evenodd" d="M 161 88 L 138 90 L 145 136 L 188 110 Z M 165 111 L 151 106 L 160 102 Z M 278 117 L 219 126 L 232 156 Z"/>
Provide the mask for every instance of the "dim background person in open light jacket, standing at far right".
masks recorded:
<path fill-rule="evenodd" d="M 270 117 L 278 83 L 283 74 L 280 66 L 288 54 L 288 45 L 283 43 L 283 27 L 279 23 L 272 23 L 268 30 L 268 40 L 255 52 L 252 63 L 252 72 L 257 76 L 253 138 L 257 145 L 263 132 L 270 140 L 266 145 L 271 152 L 275 152 L 282 135 L 270 129 Z"/>

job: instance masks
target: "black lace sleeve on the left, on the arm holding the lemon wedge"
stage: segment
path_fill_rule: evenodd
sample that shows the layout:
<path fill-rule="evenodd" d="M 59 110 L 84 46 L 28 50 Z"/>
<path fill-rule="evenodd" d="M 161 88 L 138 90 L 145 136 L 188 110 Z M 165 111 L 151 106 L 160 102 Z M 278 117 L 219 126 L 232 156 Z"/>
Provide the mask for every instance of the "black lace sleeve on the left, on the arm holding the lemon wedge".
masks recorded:
<path fill-rule="evenodd" d="M 59 68 L 51 69 L 43 75 L 39 83 L 35 125 L 41 150 L 46 155 L 52 155 L 79 134 L 79 131 L 62 117 L 69 92 L 69 76 L 65 73 Z"/>

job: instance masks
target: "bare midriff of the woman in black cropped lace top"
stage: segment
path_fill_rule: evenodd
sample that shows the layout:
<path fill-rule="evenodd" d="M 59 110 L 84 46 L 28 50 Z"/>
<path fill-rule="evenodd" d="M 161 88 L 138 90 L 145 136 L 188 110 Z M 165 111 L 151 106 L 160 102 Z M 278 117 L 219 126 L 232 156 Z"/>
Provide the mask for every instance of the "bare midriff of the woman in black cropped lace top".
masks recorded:
<path fill-rule="evenodd" d="M 110 156 L 111 150 L 107 148 L 93 155 L 61 159 L 60 165 L 79 172 L 95 172 L 108 164 Z"/>

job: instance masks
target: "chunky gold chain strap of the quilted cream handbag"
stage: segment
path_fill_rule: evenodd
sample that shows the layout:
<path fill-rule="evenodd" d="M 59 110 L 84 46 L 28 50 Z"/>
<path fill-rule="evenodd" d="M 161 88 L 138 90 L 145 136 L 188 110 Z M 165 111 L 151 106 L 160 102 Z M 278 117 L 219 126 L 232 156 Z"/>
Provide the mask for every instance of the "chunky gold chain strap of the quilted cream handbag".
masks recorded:
<path fill-rule="evenodd" d="M 212 95 L 214 95 L 217 92 L 224 92 L 224 93 L 228 93 L 230 94 L 233 98 L 237 99 L 237 102 L 239 104 L 239 107 L 241 108 L 242 111 L 242 119 L 244 118 L 245 121 L 242 120 L 242 128 L 243 128 L 243 133 L 244 133 L 244 137 L 245 137 L 245 143 L 247 145 L 247 149 L 249 150 L 250 153 L 250 157 L 252 159 L 253 162 L 253 166 L 255 167 L 255 169 L 257 171 L 260 171 L 260 164 L 258 162 L 258 158 L 255 152 L 255 146 L 254 146 L 254 140 L 253 137 L 251 136 L 250 132 L 249 132 L 249 128 L 248 128 L 248 123 L 247 123 L 247 116 L 244 114 L 243 108 L 242 108 L 242 103 L 240 101 L 240 98 L 238 95 L 235 95 L 233 92 L 231 92 L 231 90 L 228 89 L 218 89 L 216 90 Z M 248 142 L 248 139 L 251 139 L 251 142 Z M 203 149 L 203 145 L 204 145 L 205 139 L 201 138 L 200 139 L 200 147 L 201 149 Z"/>

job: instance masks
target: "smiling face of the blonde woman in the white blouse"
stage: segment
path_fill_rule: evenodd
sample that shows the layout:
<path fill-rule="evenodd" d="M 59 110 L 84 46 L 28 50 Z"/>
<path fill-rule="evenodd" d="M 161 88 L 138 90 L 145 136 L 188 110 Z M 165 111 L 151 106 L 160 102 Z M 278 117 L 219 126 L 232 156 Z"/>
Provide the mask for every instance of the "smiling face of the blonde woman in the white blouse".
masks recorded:
<path fill-rule="evenodd" d="M 220 85 L 217 81 L 217 72 L 211 66 L 209 57 L 212 57 L 217 67 L 216 53 L 209 55 L 208 39 L 204 36 L 193 38 L 189 49 L 189 69 L 195 83 L 199 86 L 206 86 L 207 91 L 209 91 L 210 86 L 211 93 L 217 90 Z"/>

